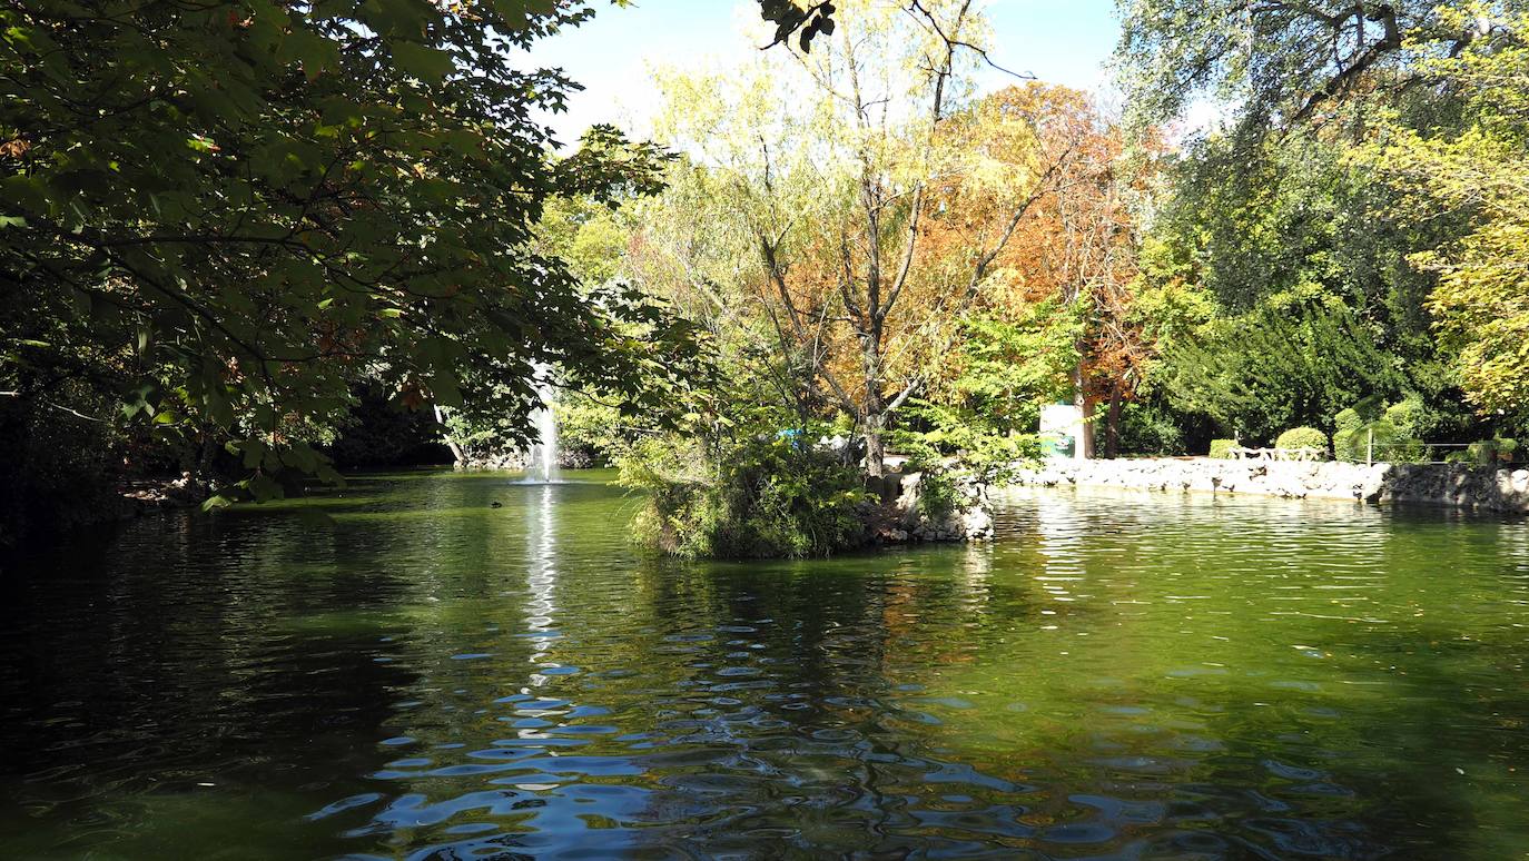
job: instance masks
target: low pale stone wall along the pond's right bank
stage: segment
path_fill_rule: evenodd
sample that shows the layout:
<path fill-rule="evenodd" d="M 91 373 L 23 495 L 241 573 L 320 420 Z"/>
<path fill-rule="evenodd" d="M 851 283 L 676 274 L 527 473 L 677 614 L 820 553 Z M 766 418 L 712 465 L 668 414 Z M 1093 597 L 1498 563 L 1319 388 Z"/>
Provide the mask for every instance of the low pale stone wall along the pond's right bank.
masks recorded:
<path fill-rule="evenodd" d="M 1102 486 L 1162 492 L 1257 494 L 1284 499 L 1420 502 L 1529 514 L 1529 469 L 1460 463 L 1338 463 L 1283 460 L 1131 459 L 1047 460 L 1014 483 Z"/>

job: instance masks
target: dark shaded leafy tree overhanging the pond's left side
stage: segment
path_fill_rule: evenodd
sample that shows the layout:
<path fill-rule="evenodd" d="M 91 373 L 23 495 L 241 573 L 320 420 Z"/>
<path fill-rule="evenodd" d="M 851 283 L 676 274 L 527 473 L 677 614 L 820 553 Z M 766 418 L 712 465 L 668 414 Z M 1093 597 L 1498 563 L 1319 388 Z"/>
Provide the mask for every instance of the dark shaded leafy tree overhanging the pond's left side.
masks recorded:
<path fill-rule="evenodd" d="M 49 410 L 84 387 L 161 428 L 232 439 L 255 495 L 278 492 L 280 469 L 323 471 L 309 428 L 344 413 L 361 373 L 410 405 L 523 416 L 528 367 L 557 362 L 654 402 L 688 330 L 529 243 L 549 197 L 651 190 L 662 168 L 610 128 L 555 159 L 531 119 L 572 83 L 517 72 L 508 52 L 589 14 L 550 0 L 0 9 L 6 398 Z"/>

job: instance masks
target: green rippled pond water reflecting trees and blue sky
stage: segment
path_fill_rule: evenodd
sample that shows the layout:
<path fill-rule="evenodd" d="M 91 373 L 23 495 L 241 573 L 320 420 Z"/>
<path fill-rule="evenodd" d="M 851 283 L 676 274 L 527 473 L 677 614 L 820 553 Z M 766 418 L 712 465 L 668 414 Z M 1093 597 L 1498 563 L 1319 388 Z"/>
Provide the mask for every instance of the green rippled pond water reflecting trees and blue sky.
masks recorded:
<path fill-rule="evenodd" d="M 1017 491 L 688 564 L 573 476 L 6 563 L 0 856 L 1529 856 L 1523 520 Z"/>

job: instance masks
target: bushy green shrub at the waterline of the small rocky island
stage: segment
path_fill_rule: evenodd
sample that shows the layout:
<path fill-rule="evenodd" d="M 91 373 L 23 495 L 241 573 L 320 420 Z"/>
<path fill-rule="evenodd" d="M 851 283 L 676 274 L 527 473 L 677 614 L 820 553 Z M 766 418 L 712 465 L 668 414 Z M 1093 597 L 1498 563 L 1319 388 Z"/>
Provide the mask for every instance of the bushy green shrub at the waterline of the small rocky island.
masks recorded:
<path fill-rule="evenodd" d="M 795 437 L 653 437 L 618 465 L 624 486 L 647 492 L 639 543 L 670 555 L 824 557 L 868 538 L 859 471 Z"/>

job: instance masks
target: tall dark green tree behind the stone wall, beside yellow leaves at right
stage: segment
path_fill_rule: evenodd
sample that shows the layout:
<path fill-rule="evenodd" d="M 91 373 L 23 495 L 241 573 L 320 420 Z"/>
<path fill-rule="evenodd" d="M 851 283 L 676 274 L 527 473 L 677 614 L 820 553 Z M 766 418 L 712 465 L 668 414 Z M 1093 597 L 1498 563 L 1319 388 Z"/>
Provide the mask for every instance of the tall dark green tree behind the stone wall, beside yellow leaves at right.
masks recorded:
<path fill-rule="evenodd" d="M 1208 99 L 1232 118 L 1183 147 L 1150 228 L 1150 277 L 1219 306 L 1217 323 L 1179 338 L 1157 370 L 1180 408 L 1268 436 L 1281 422 L 1330 422 L 1338 396 L 1414 393 L 1437 433 L 1466 433 L 1457 356 L 1468 344 L 1436 336 L 1437 272 L 1416 252 L 1454 248 L 1469 206 L 1416 217 L 1425 197 L 1352 156 L 1401 130 L 1459 130 L 1468 89 L 1434 64 L 1497 52 L 1520 6 L 1124 3 L 1119 58 L 1138 116 L 1167 121 Z M 1245 347 L 1263 343 L 1287 343 L 1286 358 L 1255 361 L 1268 350 Z"/>

